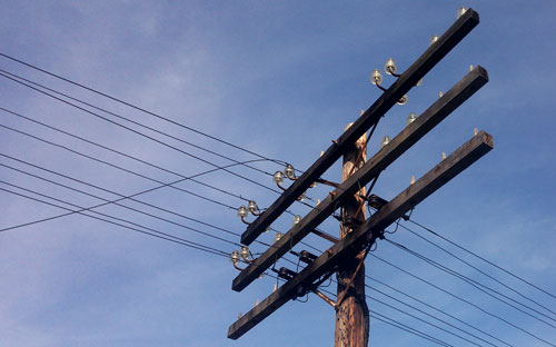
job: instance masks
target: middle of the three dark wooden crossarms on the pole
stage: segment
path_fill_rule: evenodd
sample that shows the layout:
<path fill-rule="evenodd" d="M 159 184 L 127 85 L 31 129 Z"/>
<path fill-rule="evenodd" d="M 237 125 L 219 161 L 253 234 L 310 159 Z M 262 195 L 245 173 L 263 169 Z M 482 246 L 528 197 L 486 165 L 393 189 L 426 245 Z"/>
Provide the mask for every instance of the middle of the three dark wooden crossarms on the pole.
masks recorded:
<path fill-rule="evenodd" d="M 299 224 L 286 232 L 282 238 L 267 249 L 244 271 L 241 271 L 232 282 L 232 289 L 240 291 L 251 281 L 258 278 L 276 259 L 284 256 L 288 249 L 299 242 L 305 236 L 314 230 L 320 222 L 328 218 L 334 210 L 341 205 L 346 197 L 367 185 L 388 165 L 401 156 L 407 149 L 423 138 L 436 125 L 445 119 L 453 110 L 467 100 L 480 87 L 488 81 L 488 73 L 485 69 L 477 66 L 469 71 L 458 83 L 448 90 L 441 98 L 436 100 L 425 112 L 423 112 L 414 122 L 407 126 L 398 136 L 396 136 L 387 146 L 378 151 L 367 161 L 357 172 L 340 185 L 326 197 L 318 209 L 312 209 Z M 351 130 L 351 126 L 347 131 Z M 346 132 L 347 132 L 346 131 Z"/>

